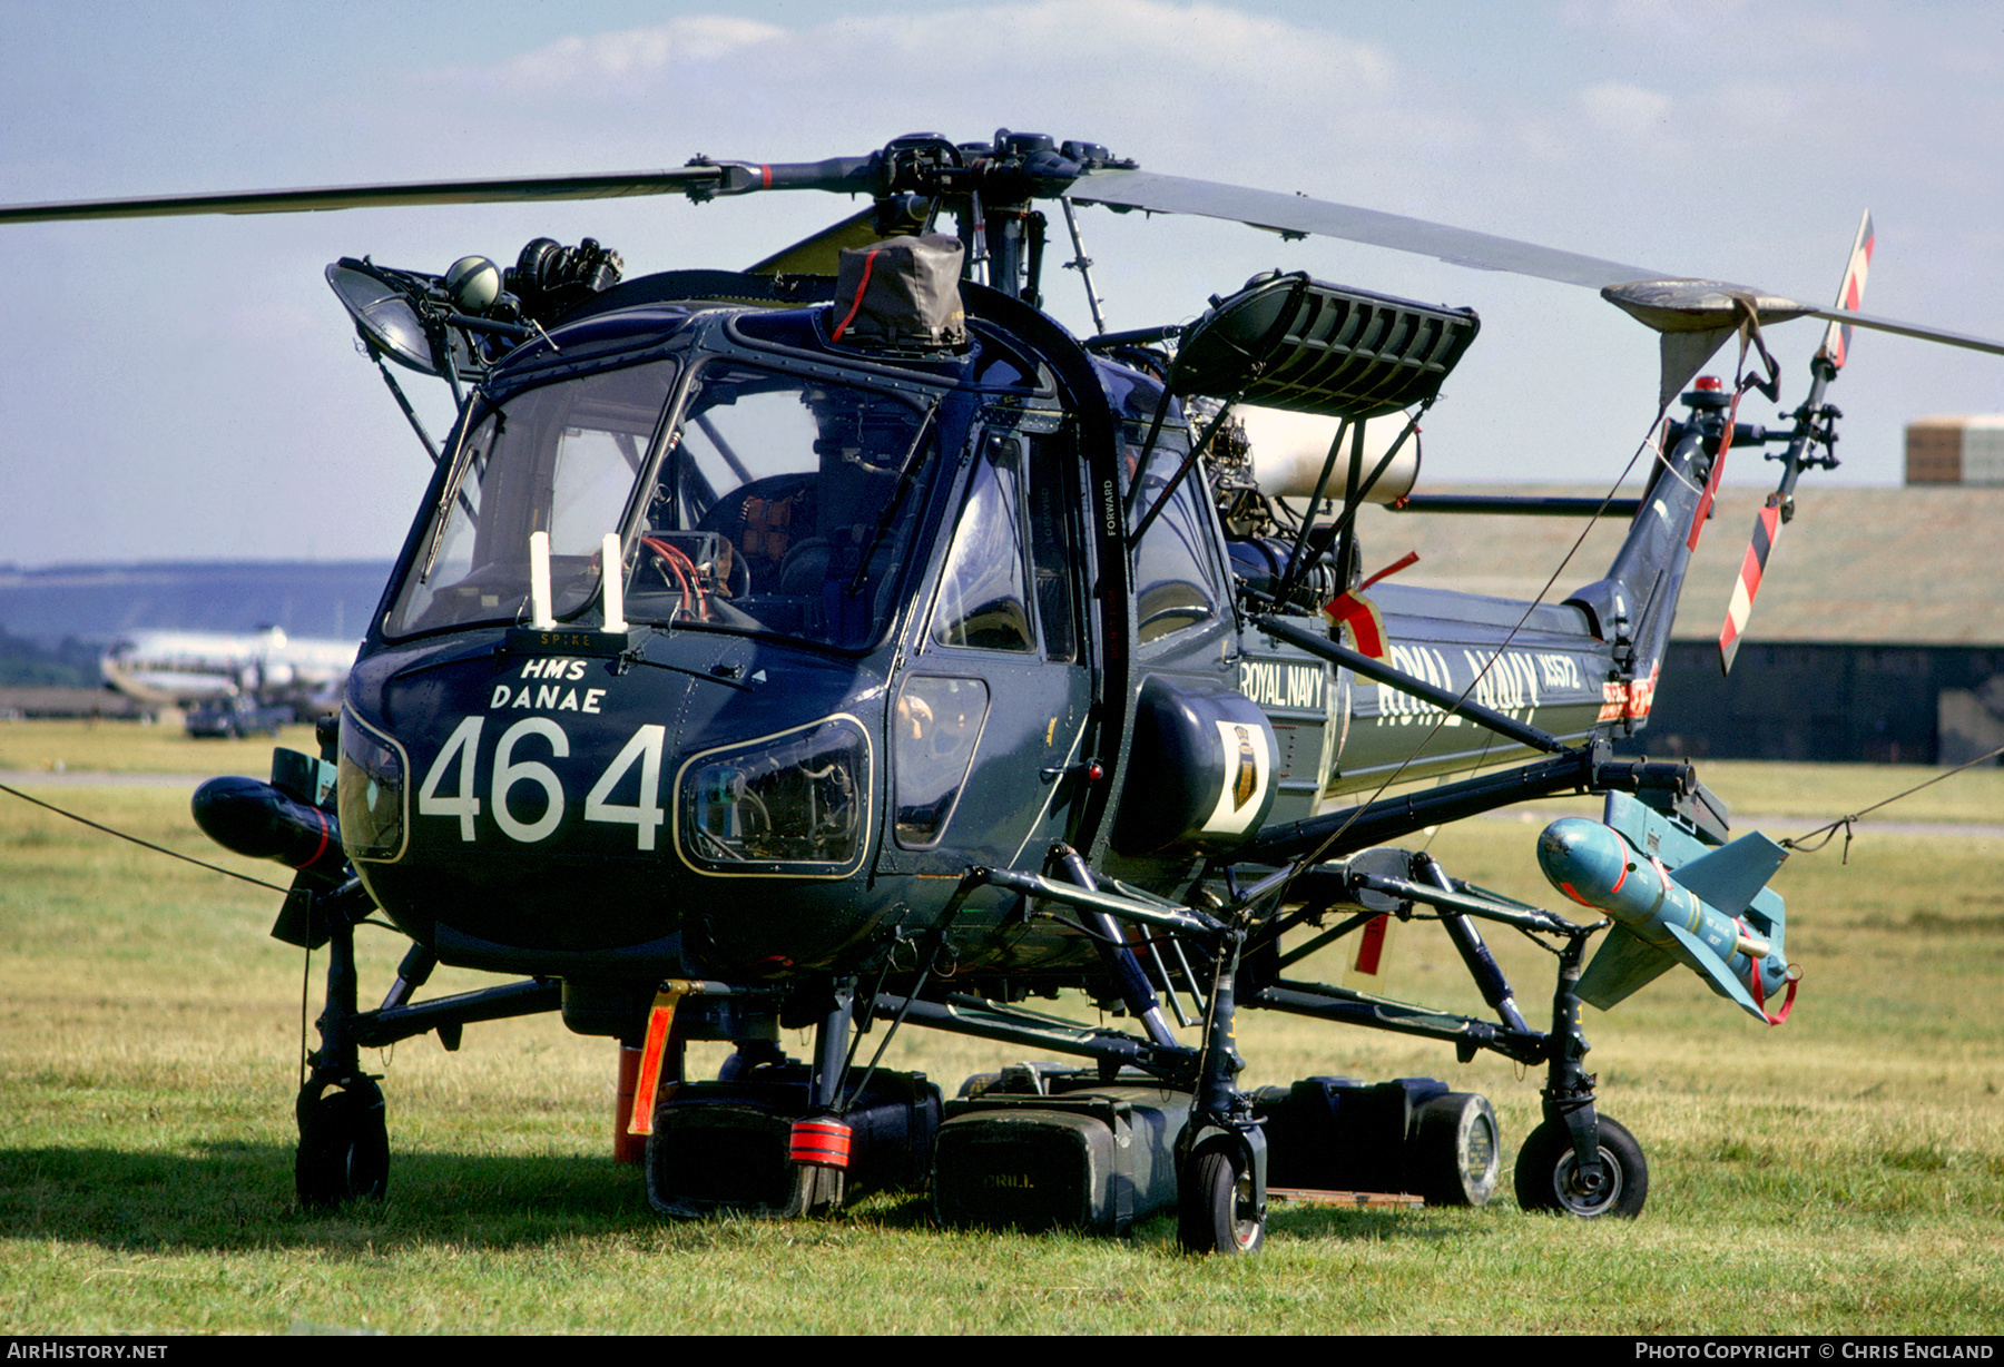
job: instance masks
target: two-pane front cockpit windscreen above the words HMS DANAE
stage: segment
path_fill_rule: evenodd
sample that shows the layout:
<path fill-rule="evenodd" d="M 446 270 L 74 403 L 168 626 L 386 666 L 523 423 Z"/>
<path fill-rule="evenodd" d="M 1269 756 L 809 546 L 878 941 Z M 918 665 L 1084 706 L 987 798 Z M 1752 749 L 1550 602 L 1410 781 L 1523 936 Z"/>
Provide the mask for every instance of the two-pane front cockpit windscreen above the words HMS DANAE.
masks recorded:
<path fill-rule="evenodd" d="M 938 469 L 936 399 L 713 357 L 557 379 L 475 411 L 391 637 L 527 615 L 547 531 L 557 621 L 597 623 L 621 537 L 635 623 L 844 649 L 886 629 Z"/>

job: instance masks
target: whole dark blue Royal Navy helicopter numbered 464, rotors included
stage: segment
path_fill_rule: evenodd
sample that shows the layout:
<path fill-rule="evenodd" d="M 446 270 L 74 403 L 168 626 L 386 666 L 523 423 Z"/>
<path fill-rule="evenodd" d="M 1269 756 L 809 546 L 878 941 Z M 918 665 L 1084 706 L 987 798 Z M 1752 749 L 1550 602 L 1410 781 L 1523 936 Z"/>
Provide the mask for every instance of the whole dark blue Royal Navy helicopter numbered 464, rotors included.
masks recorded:
<path fill-rule="evenodd" d="M 1782 447 L 1772 543 L 1800 473 L 1834 463 L 1824 391 L 1852 327 L 2004 347 L 1860 313 L 1870 220 L 1824 309 L 1008 130 L 796 164 L 30 204 L 0 222 L 774 190 L 868 206 L 745 271 L 627 279 L 591 239 L 531 241 L 511 269 L 327 271 L 431 487 L 321 752 L 281 750 L 271 782 L 194 798 L 220 844 L 297 870 L 273 934 L 329 950 L 297 1098 L 301 1201 L 387 1191 L 363 1048 L 431 1032 L 457 1048 L 467 1024 L 541 1012 L 627 1046 L 625 1128 L 665 1215 L 800 1217 L 928 1187 L 944 1221 L 1118 1231 L 1174 1209 L 1182 1247 L 1248 1253 L 1275 1187 L 1489 1201 L 1485 1098 L 1431 1078 L 1246 1092 L 1234 1020 L 1255 1008 L 1543 1068 L 1519 1205 L 1639 1215 L 1647 1161 L 1597 1106 L 1581 1002 L 1683 964 L 1780 1024 L 1800 980 L 1766 886 L 1786 852 L 1733 838 L 1689 764 L 1611 750 L 1647 726 L 1725 455 Z M 1419 419 L 1481 331 L 1471 309 L 1269 273 L 1194 323 L 1112 333 L 1094 303 L 1096 335 L 1074 337 L 1042 309 L 1044 269 L 1068 241 L 1092 299 L 1076 214 L 1092 204 L 1597 289 L 1661 335 L 1643 493 L 1411 493 Z M 1786 427 L 1741 423 L 1741 395 L 1780 393 L 1764 327 L 1796 317 L 1830 325 L 1808 399 Z M 1733 341 L 1733 381 L 1699 377 Z M 391 365 L 449 385 L 443 441 Z M 1267 487 L 1250 409 L 1335 419 L 1335 437 Z M 1367 573 L 1373 501 L 1629 531 L 1605 575 L 1521 603 Z M 1435 786 L 1383 796 L 1407 780 Z M 1605 794 L 1601 822 L 1539 836 L 1555 892 L 1591 920 L 1393 844 L 1559 794 Z M 355 928 L 377 914 L 411 950 L 363 1008 Z M 1441 922 L 1493 1018 L 1287 972 L 1347 938 L 1369 954 L 1415 918 Z M 1545 1028 L 1481 924 L 1555 950 Z M 513 980 L 421 1000 L 439 964 Z M 1126 1024 L 1024 1006 L 1058 992 Z M 1082 1064 L 946 1098 L 878 1066 L 906 1026 Z M 798 1028 L 808 1060 L 780 1048 Z M 735 1046 L 719 1078 L 683 1076 L 689 1040 Z"/>

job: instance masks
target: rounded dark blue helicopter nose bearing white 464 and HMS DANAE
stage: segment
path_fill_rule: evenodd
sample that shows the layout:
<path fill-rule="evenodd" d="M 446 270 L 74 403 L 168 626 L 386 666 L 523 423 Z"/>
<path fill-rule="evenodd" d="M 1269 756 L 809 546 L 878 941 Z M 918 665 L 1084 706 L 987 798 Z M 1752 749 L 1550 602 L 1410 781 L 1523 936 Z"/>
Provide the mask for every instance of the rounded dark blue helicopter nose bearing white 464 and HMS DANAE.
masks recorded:
<path fill-rule="evenodd" d="M 447 962 L 814 962 L 868 918 L 850 884 L 882 690 L 856 690 L 854 665 L 743 639 L 371 659 L 341 722 L 343 844 Z"/>

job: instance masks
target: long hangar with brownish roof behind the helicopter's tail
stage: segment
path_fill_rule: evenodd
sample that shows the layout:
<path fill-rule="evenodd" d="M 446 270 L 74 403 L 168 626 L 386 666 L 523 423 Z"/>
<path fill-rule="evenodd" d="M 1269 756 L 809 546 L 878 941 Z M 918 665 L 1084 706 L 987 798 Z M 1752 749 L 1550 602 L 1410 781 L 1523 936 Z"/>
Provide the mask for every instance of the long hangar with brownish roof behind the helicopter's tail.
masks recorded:
<path fill-rule="evenodd" d="M 1996 427 L 1964 427 L 1964 437 L 1996 431 L 2004 451 L 2004 417 L 1984 421 Z M 1974 447 L 1982 455 L 1982 443 Z M 1958 459 L 1970 449 L 1964 439 Z M 1962 469 L 1982 469 L 1982 459 Z M 2004 463 L 1996 469 L 1992 487 L 1804 481 L 1796 519 L 1768 557 L 1731 677 L 1719 673 L 1719 625 L 1768 487 L 1721 489 L 1691 559 L 1655 710 L 1627 748 L 1721 760 L 1960 764 L 2004 746 Z M 1583 493 L 1549 485 L 1457 491 Z M 1497 597 L 1537 595 L 1579 529 L 1571 517 L 1367 509 L 1359 519 L 1367 573 L 1417 549 L 1421 559 L 1401 581 Z M 1595 525 L 1547 601 L 1599 577 L 1625 529 L 1619 519 Z"/>

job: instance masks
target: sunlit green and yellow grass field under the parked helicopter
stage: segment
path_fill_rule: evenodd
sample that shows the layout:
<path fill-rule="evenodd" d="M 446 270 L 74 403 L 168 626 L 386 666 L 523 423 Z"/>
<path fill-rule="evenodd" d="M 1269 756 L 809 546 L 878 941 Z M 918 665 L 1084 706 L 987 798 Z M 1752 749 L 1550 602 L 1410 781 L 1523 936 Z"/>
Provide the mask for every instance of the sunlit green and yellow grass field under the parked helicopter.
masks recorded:
<path fill-rule="evenodd" d="M 265 746 L 136 730 L 0 726 L 0 768 L 265 768 Z M 1703 772 L 1739 812 L 1804 818 L 1774 834 L 1930 776 Z M 2004 822 L 2000 780 L 1958 776 L 1888 816 Z M 220 856 L 172 788 L 32 792 L 283 874 Z M 1549 900 L 1535 830 L 1465 822 L 1433 850 Z M 473 1026 L 459 1054 L 371 1054 L 391 1199 L 307 1217 L 291 1195 L 301 958 L 265 936 L 277 894 L 0 796 L 0 1331 L 1994 1333 L 2004 840 L 1864 828 L 1838 860 L 1834 844 L 1778 878 L 1806 970 L 1784 1028 L 1681 972 L 1587 1012 L 1603 1108 L 1649 1155 L 1641 1221 L 1529 1217 L 1507 1195 L 1487 1211 L 1279 1207 L 1265 1255 L 1232 1263 L 1178 1255 L 1166 1221 L 1124 1243 L 958 1235 L 912 1199 L 802 1225 L 663 1225 L 639 1173 L 607 1159 L 611 1044 L 551 1018 Z M 1403 928 L 1397 994 L 1475 1010 L 1429 932 Z M 363 936 L 369 996 L 401 940 Z M 1549 956 L 1491 940 L 1535 1018 Z M 433 990 L 473 982 L 441 972 Z M 1483 1090 L 1509 1155 L 1537 1114 L 1535 1074 L 1447 1048 L 1255 1012 L 1240 1046 L 1255 1084 L 1433 1074 Z M 1010 1056 L 908 1032 L 890 1064 L 952 1088 Z"/>

